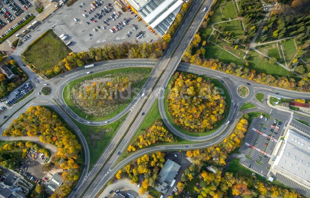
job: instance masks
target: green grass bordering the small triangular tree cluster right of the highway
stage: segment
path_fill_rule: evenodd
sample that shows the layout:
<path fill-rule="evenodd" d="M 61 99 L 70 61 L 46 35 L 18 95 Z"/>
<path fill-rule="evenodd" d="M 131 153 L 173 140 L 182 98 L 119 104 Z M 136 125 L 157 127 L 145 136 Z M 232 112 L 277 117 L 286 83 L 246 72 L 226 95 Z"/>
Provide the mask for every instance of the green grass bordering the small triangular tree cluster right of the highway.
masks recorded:
<path fill-rule="evenodd" d="M 160 113 L 159 113 L 158 99 L 156 99 L 156 101 L 154 102 L 153 106 L 149 110 L 148 114 L 145 116 L 145 118 L 144 118 L 143 122 L 141 123 L 139 129 L 136 131 L 135 136 L 131 139 L 130 144 L 132 144 L 132 142 L 134 142 L 142 133 L 144 133 L 145 129 L 147 129 L 148 127 L 152 126 L 155 123 L 155 120 L 157 120 L 157 119 L 160 119 L 162 121 L 162 123 L 163 123 L 163 126 L 168 130 L 168 128 L 164 124 L 164 122 L 162 120 L 162 117 L 160 116 Z M 160 142 L 160 143 L 156 143 L 156 144 L 151 144 L 148 147 L 153 147 L 153 146 L 158 146 L 158 145 L 168 145 L 168 144 L 169 145 L 171 145 L 171 144 L 195 144 L 192 141 L 184 140 L 184 139 L 180 138 L 179 136 L 176 136 L 171 131 L 169 131 L 169 133 L 172 134 L 173 139 L 175 140 L 174 143 L 171 143 L 171 142 Z M 143 147 L 142 149 L 145 149 L 145 148 L 148 148 L 148 147 Z M 141 150 L 141 149 L 137 149 L 135 152 L 137 152 L 139 150 Z M 118 159 L 117 162 L 122 161 L 123 159 L 125 159 L 126 157 L 131 155 L 132 153 L 134 153 L 134 152 L 131 152 L 131 153 L 123 152 L 121 157 Z"/>

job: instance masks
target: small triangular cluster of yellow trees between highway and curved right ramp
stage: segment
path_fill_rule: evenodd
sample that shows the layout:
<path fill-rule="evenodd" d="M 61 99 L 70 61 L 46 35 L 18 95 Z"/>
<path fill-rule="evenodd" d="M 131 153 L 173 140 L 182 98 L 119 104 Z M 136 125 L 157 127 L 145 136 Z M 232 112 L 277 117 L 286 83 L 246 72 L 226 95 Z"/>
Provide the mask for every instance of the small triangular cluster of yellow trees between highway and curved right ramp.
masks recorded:
<path fill-rule="evenodd" d="M 157 119 L 152 126 L 145 129 L 145 131 L 128 146 L 127 152 L 142 149 L 158 142 L 175 142 L 172 134 L 166 130 L 162 121 L 159 119 Z"/>

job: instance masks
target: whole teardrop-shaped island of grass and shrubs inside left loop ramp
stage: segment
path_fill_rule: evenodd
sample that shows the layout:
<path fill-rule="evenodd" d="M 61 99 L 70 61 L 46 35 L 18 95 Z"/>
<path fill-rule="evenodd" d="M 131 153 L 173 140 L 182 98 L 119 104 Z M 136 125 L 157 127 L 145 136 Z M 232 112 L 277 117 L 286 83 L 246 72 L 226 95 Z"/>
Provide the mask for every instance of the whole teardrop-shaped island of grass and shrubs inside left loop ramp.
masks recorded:
<path fill-rule="evenodd" d="M 135 67 L 87 75 L 66 85 L 64 101 L 82 118 L 111 118 L 130 104 L 143 87 L 151 70 Z"/>

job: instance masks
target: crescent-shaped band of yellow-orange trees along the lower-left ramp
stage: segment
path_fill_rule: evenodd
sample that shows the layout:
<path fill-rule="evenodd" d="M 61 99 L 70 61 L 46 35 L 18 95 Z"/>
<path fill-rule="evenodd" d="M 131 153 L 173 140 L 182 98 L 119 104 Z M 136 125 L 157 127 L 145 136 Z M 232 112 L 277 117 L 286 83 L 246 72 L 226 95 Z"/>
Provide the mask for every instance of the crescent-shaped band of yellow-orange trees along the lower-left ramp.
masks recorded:
<path fill-rule="evenodd" d="M 3 132 L 3 136 L 37 136 L 43 143 L 58 148 L 51 156 L 51 162 L 63 169 L 63 184 L 55 190 L 52 198 L 68 195 L 71 187 L 78 181 L 82 164 L 82 146 L 76 135 L 66 128 L 60 118 L 42 106 L 29 107 Z"/>

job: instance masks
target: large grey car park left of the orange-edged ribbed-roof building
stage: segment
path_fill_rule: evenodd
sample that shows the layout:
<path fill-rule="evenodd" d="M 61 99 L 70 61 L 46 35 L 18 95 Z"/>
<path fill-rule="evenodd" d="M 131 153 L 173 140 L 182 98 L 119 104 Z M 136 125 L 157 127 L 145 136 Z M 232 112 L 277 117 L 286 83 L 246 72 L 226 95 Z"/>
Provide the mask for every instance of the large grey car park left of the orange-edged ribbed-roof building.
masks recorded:
<path fill-rule="evenodd" d="M 68 47 L 73 52 L 112 42 L 139 43 L 150 40 L 156 41 L 159 38 L 155 33 L 151 33 L 142 21 L 137 21 L 134 13 L 131 14 L 130 11 L 122 12 L 112 0 L 102 1 L 103 5 L 98 3 L 99 7 L 96 9 L 91 7 L 91 2 L 83 2 L 84 6 L 81 3 L 72 5 L 68 14 L 63 19 L 57 20 L 56 25 L 53 27 L 57 35 L 65 34 L 67 36 L 64 39 L 65 43 L 72 41 Z M 61 12 L 65 11 L 64 8 L 60 9 Z M 116 13 L 120 15 L 117 17 Z M 113 30 L 113 27 L 115 30 Z M 141 31 L 143 37 L 137 38 L 136 35 Z"/>

